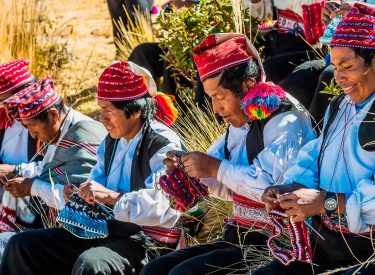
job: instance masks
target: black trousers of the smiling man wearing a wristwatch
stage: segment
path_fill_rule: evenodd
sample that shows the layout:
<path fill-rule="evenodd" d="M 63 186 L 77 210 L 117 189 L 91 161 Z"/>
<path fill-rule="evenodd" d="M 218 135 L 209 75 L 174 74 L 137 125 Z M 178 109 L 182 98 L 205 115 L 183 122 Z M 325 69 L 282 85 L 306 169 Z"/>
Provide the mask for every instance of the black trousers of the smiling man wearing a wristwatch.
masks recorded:
<path fill-rule="evenodd" d="M 335 270 L 358 264 L 357 259 L 364 262 L 374 253 L 372 241 L 368 237 L 341 234 L 340 232 L 331 231 L 324 226 L 321 227 L 319 218 L 313 219 L 313 227 L 316 230 L 320 229 L 320 235 L 324 238 L 323 240 L 315 233 L 311 233 L 313 265 L 292 262 L 290 265 L 286 266 L 280 261 L 275 260 L 256 270 L 253 274 L 319 274 L 327 270 Z M 351 274 L 350 272 L 354 272 L 354 270 L 348 272 L 349 273 L 347 274 Z"/>

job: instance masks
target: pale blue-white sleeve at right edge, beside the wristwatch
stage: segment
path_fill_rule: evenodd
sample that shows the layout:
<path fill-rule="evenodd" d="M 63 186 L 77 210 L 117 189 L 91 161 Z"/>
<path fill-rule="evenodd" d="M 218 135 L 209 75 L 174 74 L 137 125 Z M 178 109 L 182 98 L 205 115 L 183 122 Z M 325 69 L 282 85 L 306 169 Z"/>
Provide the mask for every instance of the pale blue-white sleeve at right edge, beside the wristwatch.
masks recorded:
<path fill-rule="evenodd" d="M 355 233 L 369 232 L 370 225 L 375 225 L 375 182 L 361 180 L 356 190 L 347 196 L 345 206 L 349 230 Z"/>

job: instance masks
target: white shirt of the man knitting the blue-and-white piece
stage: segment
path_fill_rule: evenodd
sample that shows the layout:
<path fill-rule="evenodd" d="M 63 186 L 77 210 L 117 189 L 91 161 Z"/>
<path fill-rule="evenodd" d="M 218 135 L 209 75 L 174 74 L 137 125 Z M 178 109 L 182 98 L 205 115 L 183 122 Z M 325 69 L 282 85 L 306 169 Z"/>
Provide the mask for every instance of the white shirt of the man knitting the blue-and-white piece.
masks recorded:
<path fill-rule="evenodd" d="M 125 194 L 114 206 L 114 216 L 117 220 L 132 222 L 138 225 L 173 227 L 180 213 L 170 208 L 169 200 L 161 190 L 155 188 L 161 175 L 165 174 L 163 159 L 171 150 L 181 150 L 181 141 L 175 132 L 164 124 L 152 121 L 150 127 L 157 134 L 167 138 L 169 144 L 162 147 L 150 159 L 151 174 L 145 180 L 145 189 L 130 192 L 130 176 L 137 144 L 142 137 L 142 130 L 127 141 L 121 139 L 118 143 L 108 177 L 104 171 L 105 142 L 98 149 L 98 162 L 93 168 L 89 180 L 94 180 L 106 188 L 124 192 Z"/>

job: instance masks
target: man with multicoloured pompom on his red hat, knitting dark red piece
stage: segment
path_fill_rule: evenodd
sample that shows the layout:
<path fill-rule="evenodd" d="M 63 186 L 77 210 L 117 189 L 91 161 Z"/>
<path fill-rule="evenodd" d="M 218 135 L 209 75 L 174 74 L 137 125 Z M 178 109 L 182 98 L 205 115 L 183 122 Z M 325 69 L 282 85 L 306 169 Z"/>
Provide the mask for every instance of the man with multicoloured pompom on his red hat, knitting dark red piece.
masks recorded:
<path fill-rule="evenodd" d="M 194 49 L 194 61 L 213 110 L 230 126 L 208 154 L 184 154 L 181 161 L 211 195 L 233 201 L 234 215 L 222 241 L 161 256 L 142 274 L 227 274 L 246 267 L 239 245 L 265 245 L 267 240 L 261 232 L 269 223 L 260 202 L 263 190 L 282 180 L 288 162 L 315 136 L 296 101 L 264 83 L 259 55 L 244 36 L 209 35 Z M 169 169 L 177 167 L 176 155 L 168 157 Z"/>

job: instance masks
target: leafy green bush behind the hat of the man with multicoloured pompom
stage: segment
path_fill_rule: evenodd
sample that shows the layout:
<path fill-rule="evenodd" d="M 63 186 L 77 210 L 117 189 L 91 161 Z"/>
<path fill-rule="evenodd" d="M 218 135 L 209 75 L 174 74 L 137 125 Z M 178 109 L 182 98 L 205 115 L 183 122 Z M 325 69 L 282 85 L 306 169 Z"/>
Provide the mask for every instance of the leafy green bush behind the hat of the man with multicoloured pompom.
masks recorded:
<path fill-rule="evenodd" d="M 172 13 L 161 14 L 157 38 L 165 49 L 163 58 L 175 73 L 194 82 L 197 70 L 193 61 L 193 49 L 211 33 L 243 31 L 250 33 L 249 14 L 233 8 L 235 0 L 202 0 L 189 8 L 174 8 Z M 238 23 L 241 18 L 242 26 Z M 254 36 L 252 36 L 254 37 Z M 178 80 L 178 79 L 177 79 Z"/>

